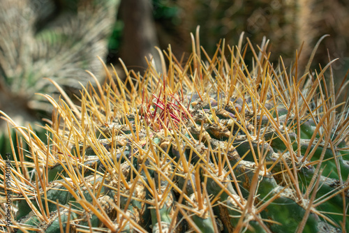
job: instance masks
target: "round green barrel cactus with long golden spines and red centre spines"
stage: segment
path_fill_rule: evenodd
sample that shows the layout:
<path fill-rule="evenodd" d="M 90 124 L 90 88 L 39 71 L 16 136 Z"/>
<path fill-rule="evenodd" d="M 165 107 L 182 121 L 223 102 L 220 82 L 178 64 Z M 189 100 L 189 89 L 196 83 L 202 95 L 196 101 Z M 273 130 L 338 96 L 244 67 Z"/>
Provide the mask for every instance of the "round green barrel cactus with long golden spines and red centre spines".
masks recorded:
<path fill-rule="evenodd" d="M 63 91 L 59 101 L 42 94 L 54 106 L 47 140 L 17 127 L 30 151 L 12 161 L 10 187 L 1 183 L 13 193 L 8 230 L 349 231 L 335 61 L 275 67 L 269 41 L 255 50 L 243 37 L 209 57 L 191 38 L 186 63 L 159 50 L 163 73 L 149 61 L 144 76 L 124 68 L 122 82 L 105 67 L 107 81 L 85 87 L 79 106 Z"/>

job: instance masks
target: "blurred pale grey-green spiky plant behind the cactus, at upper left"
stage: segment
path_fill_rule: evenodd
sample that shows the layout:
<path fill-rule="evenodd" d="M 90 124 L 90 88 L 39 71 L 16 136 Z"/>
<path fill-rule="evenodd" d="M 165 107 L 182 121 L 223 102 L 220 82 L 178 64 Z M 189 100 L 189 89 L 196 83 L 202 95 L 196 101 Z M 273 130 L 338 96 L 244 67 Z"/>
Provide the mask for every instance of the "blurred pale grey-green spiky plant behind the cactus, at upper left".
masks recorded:
<path fill-rule="evenodd" d="M 20 125 L 34 127 L 52 107 L 38 93 L 57 93 L 44 77 L 55 80 L 70 96 L 80 83 L 103 80 L 97 56 L 107 56 L 107 43 L 119 1 L 1 1 L 0 109 Z M 101 73 L 102 71 L 102 73 Z M 10 151 L 6 123 L 0 120 L 3 153 Z M 7 141 L 7 142 L 5 142 Z"/>

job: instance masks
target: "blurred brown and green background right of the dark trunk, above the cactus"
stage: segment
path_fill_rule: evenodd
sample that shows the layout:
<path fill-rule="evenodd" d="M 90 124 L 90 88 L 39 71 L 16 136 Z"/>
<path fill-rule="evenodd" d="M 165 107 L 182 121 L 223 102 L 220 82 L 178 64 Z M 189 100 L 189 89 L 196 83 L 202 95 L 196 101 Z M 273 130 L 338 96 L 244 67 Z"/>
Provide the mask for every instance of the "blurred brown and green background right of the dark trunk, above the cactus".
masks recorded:
<path fill-rule="evenodd" d="M 144 0 L 138 0 L 138 4 L 141 1 Z M 320 44 L 313 61 L 314 68 L 318 68 L 319 63 L 322 66 L 328 63 L 327 49 L 331 59 L 340 59 L 333 66 L 340 76 L 349 68 L 348 1 L 152 0 L 151 4 L 146 5 L 153 12 L 152 20 L 156 29 L 156 41 L 152 43 L 161 49 L 166 49 L 171 44 L 177 57 L 191 51 L 188 35 L 200 25 L 200 43 L 209 54 L 216 50 L 216 44 L 221 38 L 225 38 L 226 45 L 236 45 L 244 31 L 245 37 L 250 38 L 254 44 L 260 44 L 263 36 L 269 39 L 271 61 L 277 63 L 281 56 L 286 64 L 295 60 L 296 50 L 299 52 L 302 43 L 299 63 L 302 65 L 308 61 L 320 37 L 329 34 Z M 127 18 L 119 17 L 119 25 L 123 24 L 123 20 Z M 120 31 L 116 35 L 120 40 L 117 45 L 122 47 L 123 27 L 118 29 Z M 119 47 L 112 47 L 111 57 L 124 56 L 117 52 Z M 110 59 L 114 63 L 116 60 Z M 129 65 L 137 66 L 131 63 Z"/>

